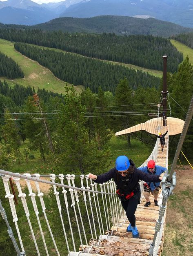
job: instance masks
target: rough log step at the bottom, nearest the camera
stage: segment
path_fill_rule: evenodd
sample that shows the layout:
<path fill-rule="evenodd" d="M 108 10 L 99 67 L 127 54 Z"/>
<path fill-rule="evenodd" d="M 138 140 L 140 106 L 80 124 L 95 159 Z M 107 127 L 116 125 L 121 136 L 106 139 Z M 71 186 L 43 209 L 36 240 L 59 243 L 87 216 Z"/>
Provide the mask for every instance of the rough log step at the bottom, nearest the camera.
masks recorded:
<path fill-rule="evenodd" d="M 140 246 L 137 251 L 132 250 L 132 249 L 118 249 L 118 248 L 111 248 L 111 247 L 90 247 L 88 245 L 83 245 L 84 252 L 90 252 L 90 253 L 95 253 L 95 254 L 102 254 L 102 255 L 108 255 L 108 256 L 148 256 L 149 252 L 148 251 L 143 251 L 140 250 Z M 82 246 L 80 246 L 80 251 L 82 251 Z"/>

